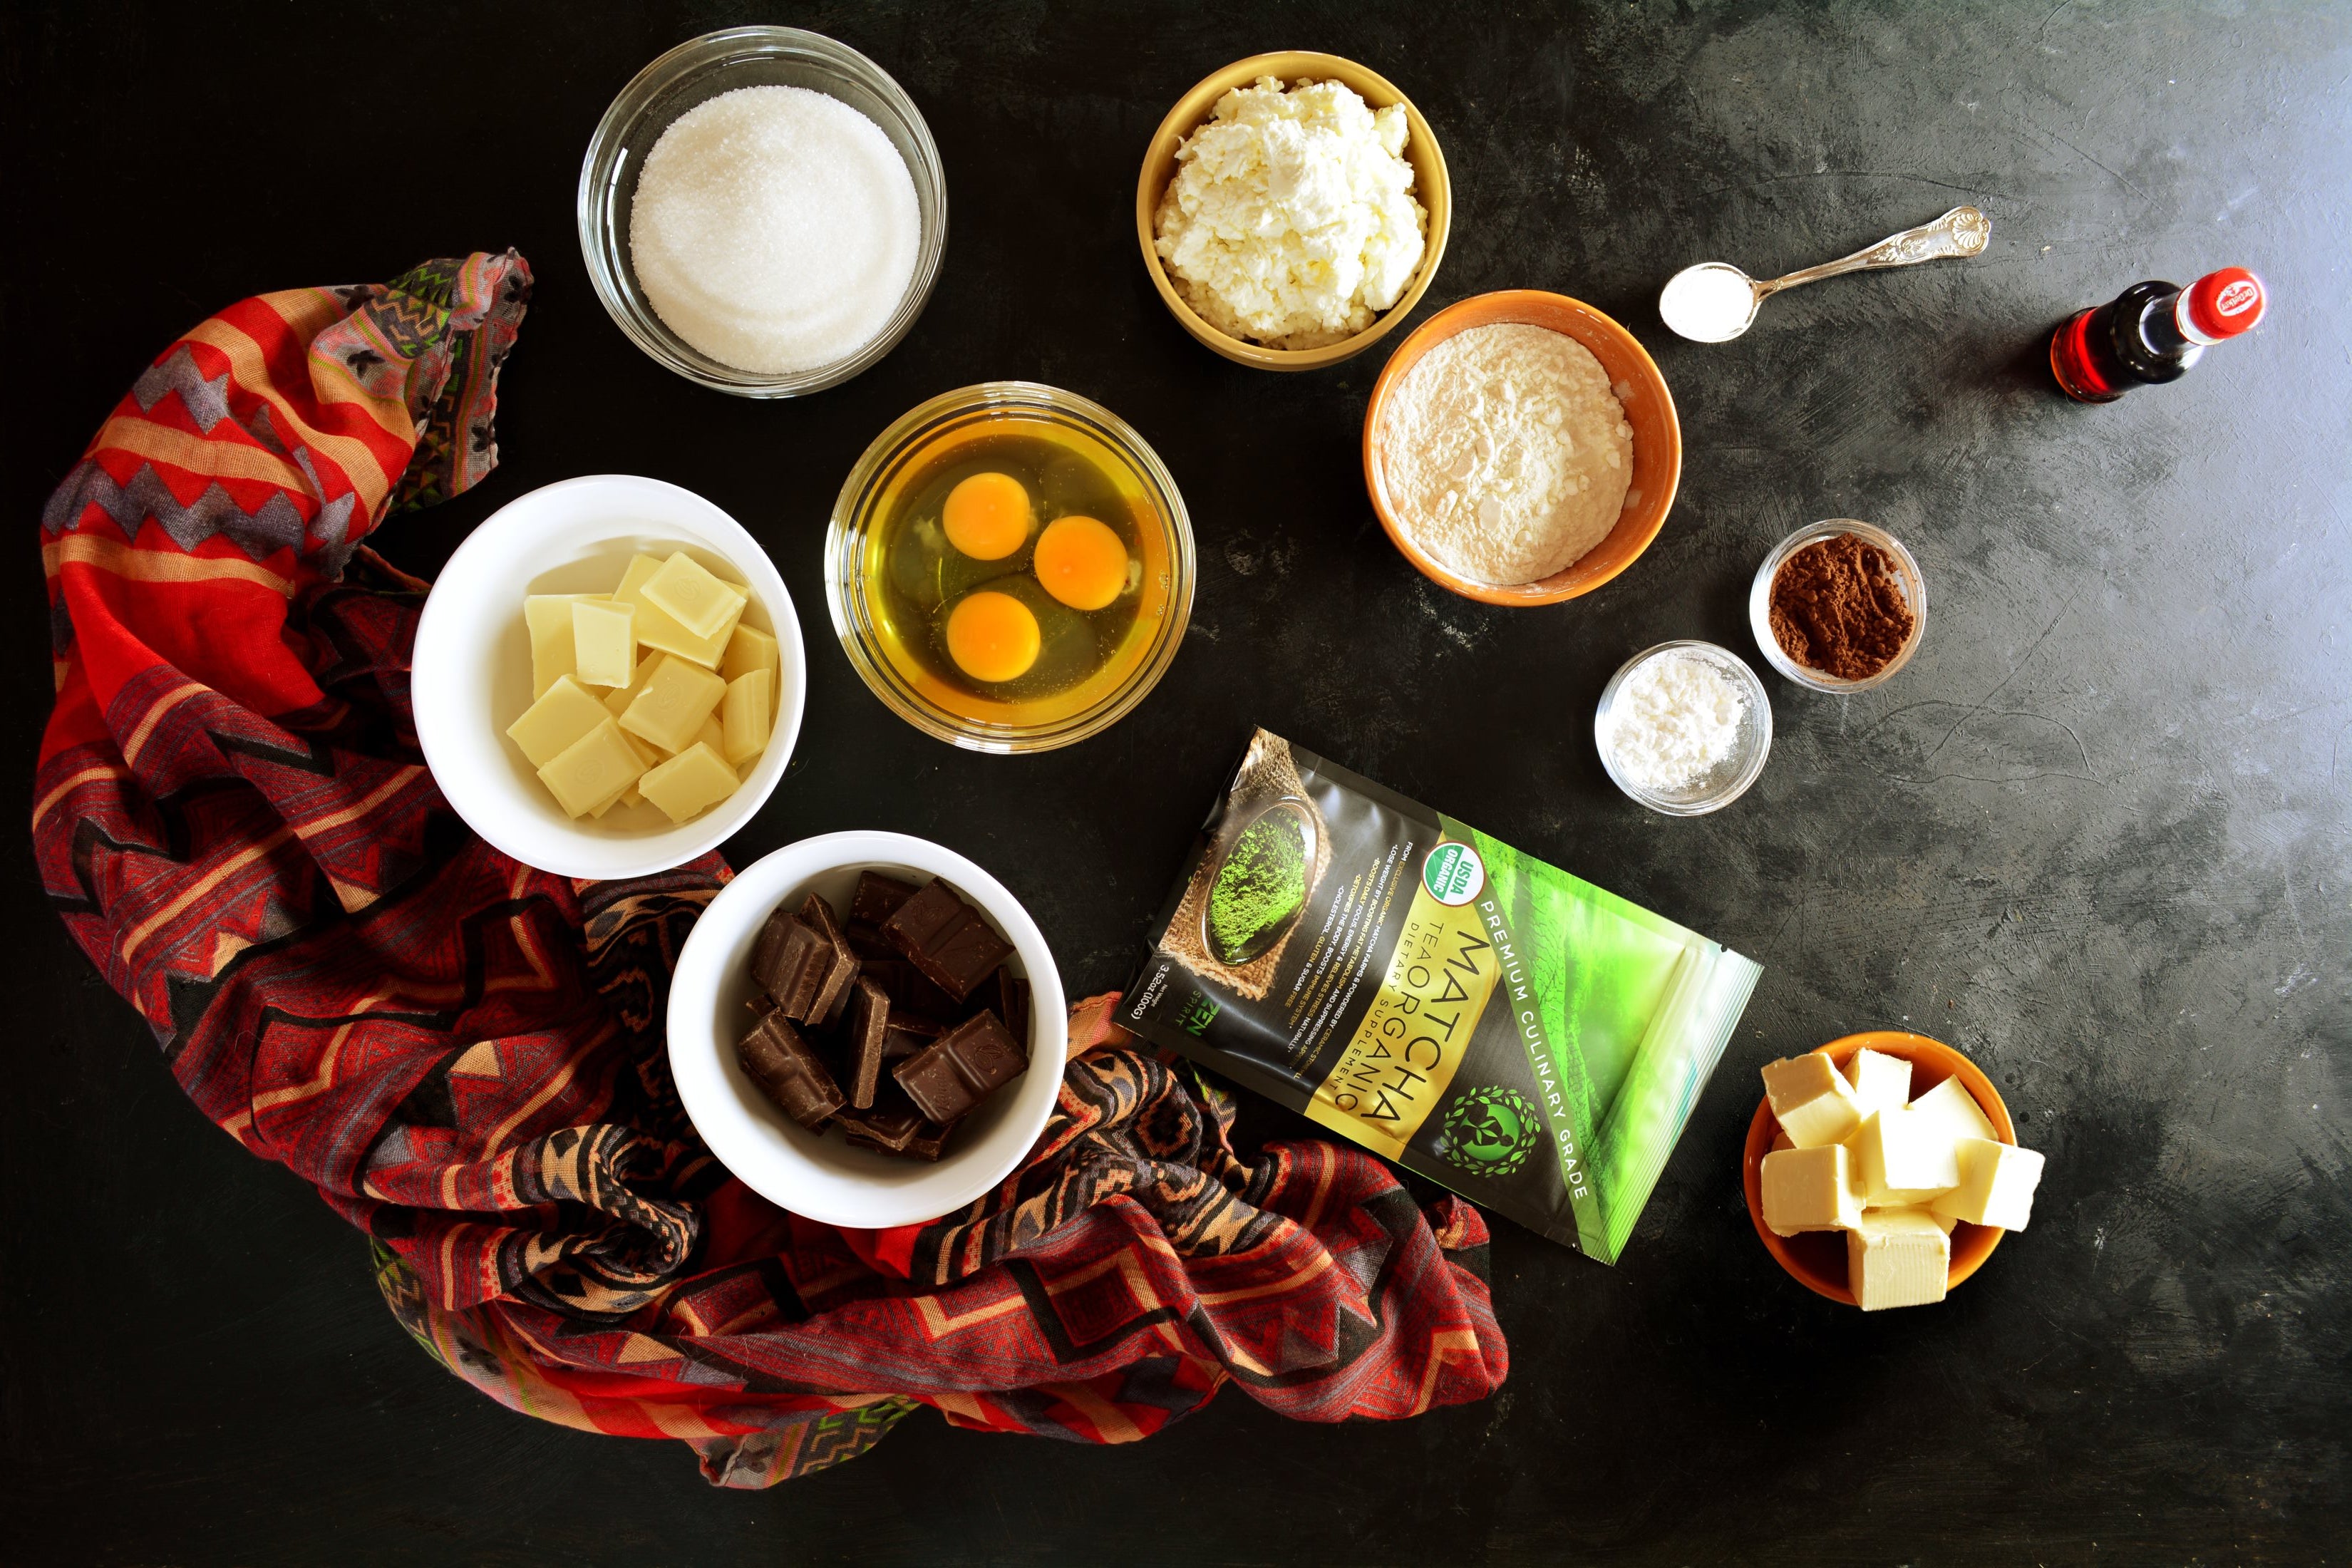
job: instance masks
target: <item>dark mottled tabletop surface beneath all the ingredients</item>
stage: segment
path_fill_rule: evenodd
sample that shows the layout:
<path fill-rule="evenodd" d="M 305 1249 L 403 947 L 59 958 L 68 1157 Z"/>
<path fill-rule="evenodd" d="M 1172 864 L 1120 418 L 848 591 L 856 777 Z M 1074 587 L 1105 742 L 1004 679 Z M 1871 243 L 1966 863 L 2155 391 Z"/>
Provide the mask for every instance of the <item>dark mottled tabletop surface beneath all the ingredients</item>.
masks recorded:
<path fill-rule="evenodd" d="M 703 393 L 588 292 L 572 188 L 656 52 L 800 21 L 873 54 L 948 165 L 913 336 L 793 404 Z M 1766 976 L 1623 1267 L 1498 1222 L 1510 1385 L 1390 1427 L 1237 1392 L 1089 1450 L 917 1418 L 764 1495 L 680 1446 L 510 1415 L 383 1312 L 360 1239 L 181 1100 L 5 839 L 0 1497 L 9 1561 L 2343 1561 L 2352 1544 L 2352 26 L 2321 5 L 9 9 L 0 820 L 49 703 L 33 517 L 172 334 L 259 289 L 520 244 L 539 299 L 503 468 L 379 536 L 433 571 L 593 470 L 694 487 L 774 552 L 811 651 L 802 750 L 743 860 L 835 827 L 962 849 L 1073 994 L 1127 978 L 1251 722 L 1755 954 Z M 1152 296 L 1131 188 L 1192 80 L 1319 47 L 1416 96 L 1454 169 L 1423 310 L 1550 287 L 1682 404 L 1682 501 L 1606 590 L 1446 597 L 1383 541 L 1357 430 L 1383 350 L 1282 378 Z M 1769 275 L 1973 200 L 1980 261 L 1656 322 L 1663 277 Z M 2274 313 L 2187 381 L 2082 409 L 2042 346 L 2136 277 L 2260 268 Z M 1192 635 L 1122 726 L 1037 759 L 891 719 L 830 639 L 816 545 L 913 402 L 1028 376 L 1108 402 L 1200 536 Z M 1926 646 L 1851 701 L 1773 686 L 1762 783 L 1703 820 L 1602 776 L 1632 651 L 1752 656 L 1799 522 L 1919 555 Z M 21 832 L 21 830 L 19 830 Z M 1863 1319 L 1738 1199 L 1762 1060 L 1870 1025 L 1971 1051 L 2049 1154 L 2034 1227 L 1947 1305 Z M 1263 1103 L 1244 1131 L 1287 1131 Z"/>

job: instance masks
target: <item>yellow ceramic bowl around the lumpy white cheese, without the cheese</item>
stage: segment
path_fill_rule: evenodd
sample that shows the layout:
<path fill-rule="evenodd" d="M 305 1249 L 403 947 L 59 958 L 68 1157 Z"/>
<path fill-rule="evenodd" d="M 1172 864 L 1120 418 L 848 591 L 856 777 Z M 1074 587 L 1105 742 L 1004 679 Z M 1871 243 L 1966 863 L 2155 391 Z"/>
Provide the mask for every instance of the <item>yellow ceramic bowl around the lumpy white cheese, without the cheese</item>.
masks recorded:
<path fill-rule="evenodd" d="M 1414 197 L 1430 214 L 1428 249 L 1421 252 L 1421 268 L 1414 273 L 1414 280 L 1404 284 L 1404 294 L 1397 296 L 1397 303 L 1383 310 L 1371 327 L 1352 339 L 1341 339 L 1338 343 L 1327 343 L 1322 348 L 1265 348 L 1261 343 L 1218 331 L 1204 322 L 1192 306 L 1183 303 L 1176 284 L 1169 282 L 1160 252 L 1152 249 L 1152 216 L 1160 212 L 1160 197 L 1167 193 L 1169 181 L 1176 179 L 1176 143 L 1209 122 L 1209 113 L 1216 108 L 1218 99 L 1235 87 L 1249 87 L 1261 75 L 1277 78 L 1284 87 L 1296 87 L 1298 82 L 1341 82 L 1374 108 L 1402 103 L 1409 132 L 1404 139 L 1404 162 L 1414 165 Z M 1437 263 L 1446 254 L 1446 228 L 1451 221 L 1454 188 L 1446 183 L 1446 158 L 1437 150 L 1437 136 L 1430 132 L 1430 122 L 1421 118 L 1421 110 L 1414 108 L 1414 101 L 1397 92 L 1385 75 L 1367 71 L 1352 59 L 1341 59 L 1338 54 L 1312 54 L 1308 49 L 1251 54 L 1249 59 L 1235 61 L 1223 71 L 1202 78 L 1192 92 L 1176 99 L 1176 108 L 1171 108 L 1169 118 L 1160 122 L 1157 132 L 1152 132 L 1152 146 L 1143 153 L 1143 174 L 1136 179 L 1136 242 L 1143 247 L 1143 268 L 1152 275 L 1152 287 L 1160 289 L 1160 301 L 1195 339 L 1237 364 L 1256 364 L 1258 369 L 1322 369 L 1324 364 L 1338 364 L 1341 360 L 1355 357 L 1388 336 L 1388 329 L 1411 315 L 1414 306 L 1421 303 L 1421 296 L 1428 292 L 1430 280 L 1437 277 Z"/>

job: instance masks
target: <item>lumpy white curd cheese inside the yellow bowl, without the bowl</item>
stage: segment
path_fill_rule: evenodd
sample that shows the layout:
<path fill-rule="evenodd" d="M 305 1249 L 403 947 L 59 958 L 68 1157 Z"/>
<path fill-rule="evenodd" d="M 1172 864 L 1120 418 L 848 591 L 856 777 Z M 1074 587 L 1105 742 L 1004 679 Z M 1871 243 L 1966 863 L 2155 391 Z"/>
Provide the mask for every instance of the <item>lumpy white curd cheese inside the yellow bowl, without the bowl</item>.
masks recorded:
<path fill-rule="evenodd" d="M 1404 162 L 1404 108 L 1341 82 L 1265 75 L 1216 101 L 1176 148 L 1155 244 L 1218 331 L 1319 348 L 1371 327 L 1414 280 L 1428 214 Z"/>

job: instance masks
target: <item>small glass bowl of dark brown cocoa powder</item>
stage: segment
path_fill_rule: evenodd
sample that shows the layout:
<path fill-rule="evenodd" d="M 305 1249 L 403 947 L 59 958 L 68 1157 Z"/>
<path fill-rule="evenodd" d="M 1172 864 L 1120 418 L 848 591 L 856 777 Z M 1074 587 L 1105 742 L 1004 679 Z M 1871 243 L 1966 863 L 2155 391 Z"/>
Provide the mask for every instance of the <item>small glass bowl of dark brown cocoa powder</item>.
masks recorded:
<path fill-rule="evenodd" d="M 1764 557 L 1748 625 L 1764 661 L 1799 686 L 1867 691 L 1919 651 L 1926 578 L 1886 529 L 1830 517 Z"/>

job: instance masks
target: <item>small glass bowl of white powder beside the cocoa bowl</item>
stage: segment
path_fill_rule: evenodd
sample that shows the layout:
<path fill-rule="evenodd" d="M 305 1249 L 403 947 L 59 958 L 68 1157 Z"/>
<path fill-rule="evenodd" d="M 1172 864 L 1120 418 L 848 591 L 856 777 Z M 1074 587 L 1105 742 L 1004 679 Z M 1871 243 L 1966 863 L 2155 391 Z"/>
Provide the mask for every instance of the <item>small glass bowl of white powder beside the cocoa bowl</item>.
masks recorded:
<path fill-rule="evenodd" d="M 1661 642 L 1609 677 L 1592 741 L 1625 795 L 1665 816 L 1705 816 L 1764 771 L 1771 698 L 1731 649 Z"/>

